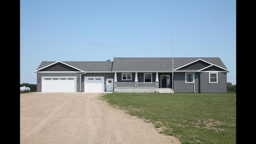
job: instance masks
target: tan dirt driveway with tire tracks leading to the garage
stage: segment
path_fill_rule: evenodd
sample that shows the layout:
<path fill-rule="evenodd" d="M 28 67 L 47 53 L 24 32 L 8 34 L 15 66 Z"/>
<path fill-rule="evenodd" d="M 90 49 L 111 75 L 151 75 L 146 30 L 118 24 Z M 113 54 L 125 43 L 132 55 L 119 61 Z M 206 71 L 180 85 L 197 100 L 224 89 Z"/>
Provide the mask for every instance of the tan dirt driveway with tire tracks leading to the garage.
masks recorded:
<path fill-rule="evenodd" d="M 100 93 L 20 94 L 20 144 L 180 144 Z"/>

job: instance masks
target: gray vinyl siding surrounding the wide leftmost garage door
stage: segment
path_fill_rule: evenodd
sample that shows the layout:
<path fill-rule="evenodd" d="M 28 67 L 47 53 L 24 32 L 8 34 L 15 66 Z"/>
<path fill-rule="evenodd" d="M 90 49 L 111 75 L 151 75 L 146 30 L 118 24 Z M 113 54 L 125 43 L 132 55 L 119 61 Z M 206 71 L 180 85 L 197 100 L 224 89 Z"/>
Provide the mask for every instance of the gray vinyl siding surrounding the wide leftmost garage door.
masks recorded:
<path fill-rule="evenodd" d="M 42 76 L 76 76 L 76 80 L 80 78 L 80 73 L 37 73 L 36 92 L 42 92 Z M 76 81 L 76 92 L 80 92 L 80 82 Z"/>

